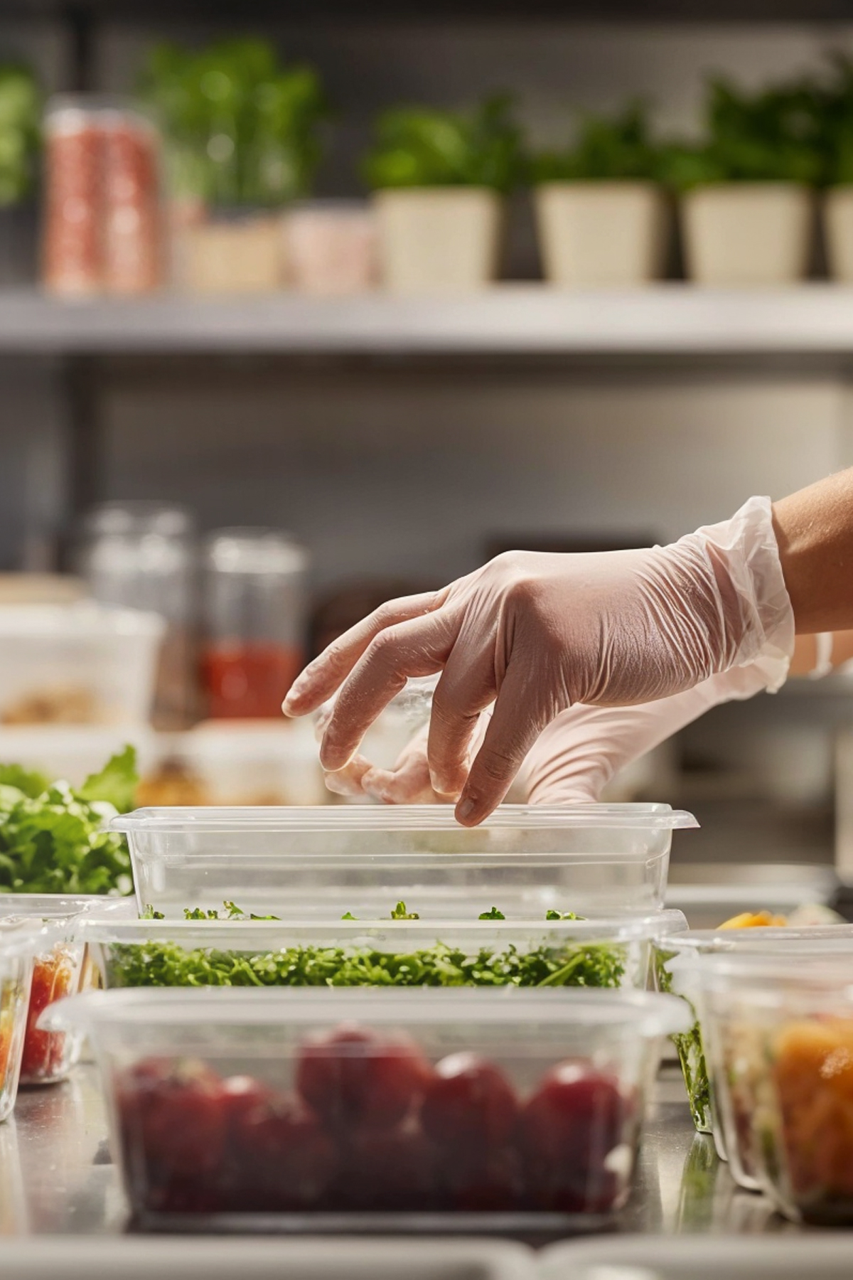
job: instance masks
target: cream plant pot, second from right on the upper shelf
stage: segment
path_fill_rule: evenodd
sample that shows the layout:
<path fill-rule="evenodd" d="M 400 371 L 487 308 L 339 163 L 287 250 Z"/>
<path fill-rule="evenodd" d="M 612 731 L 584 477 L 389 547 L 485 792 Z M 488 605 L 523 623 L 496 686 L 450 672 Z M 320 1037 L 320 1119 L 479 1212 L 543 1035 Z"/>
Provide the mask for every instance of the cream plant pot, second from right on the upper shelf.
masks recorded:
<path fill-rule="evenodd" d="M 793 284 L 808 270 L 813 196 L 793 182 L 732 182 L 682 202 L 684 259 L 697 284 Z"/>

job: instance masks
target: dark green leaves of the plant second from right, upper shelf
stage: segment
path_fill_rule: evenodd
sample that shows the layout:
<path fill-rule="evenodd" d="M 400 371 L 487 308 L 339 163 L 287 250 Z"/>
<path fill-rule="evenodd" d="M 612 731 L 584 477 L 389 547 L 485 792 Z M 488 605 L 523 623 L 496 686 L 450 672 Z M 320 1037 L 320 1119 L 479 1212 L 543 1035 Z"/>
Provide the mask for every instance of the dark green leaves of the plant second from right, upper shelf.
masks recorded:
<path fill-rule="evenodd" d="M 661 175 L 673 187 L 717 182 L 799 182 L 825 178 L 825 93 L 813 79 L 757 93 L 729 81 L 707 86 L 705 138 L 673 142 L 661 152 Z"/>

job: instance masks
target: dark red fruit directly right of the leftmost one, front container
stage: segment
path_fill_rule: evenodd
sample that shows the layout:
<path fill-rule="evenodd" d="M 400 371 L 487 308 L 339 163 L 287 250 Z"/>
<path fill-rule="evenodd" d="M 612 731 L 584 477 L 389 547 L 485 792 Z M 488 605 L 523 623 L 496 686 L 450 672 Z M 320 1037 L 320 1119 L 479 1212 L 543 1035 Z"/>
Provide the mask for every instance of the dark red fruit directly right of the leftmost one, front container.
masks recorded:
<path fill-rule="evenodd" d="M 229 1084 L 231 1180 L 242 1207 L 315 1206 L 338 1172 L 336 1148 L 315 1112 L 293 1093 L 256 1085 L 249 1101 L 244 1078 Z"/>

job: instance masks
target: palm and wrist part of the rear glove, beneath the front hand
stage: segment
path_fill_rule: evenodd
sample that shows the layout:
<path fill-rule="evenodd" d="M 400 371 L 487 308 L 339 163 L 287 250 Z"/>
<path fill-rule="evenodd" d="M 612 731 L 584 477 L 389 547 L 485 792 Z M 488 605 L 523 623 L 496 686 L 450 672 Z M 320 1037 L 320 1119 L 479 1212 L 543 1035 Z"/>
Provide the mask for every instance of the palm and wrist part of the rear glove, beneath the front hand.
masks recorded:
<path fill-rule="evenodd" d="M 529 804 L 591 804 L 614 774 L 712 707 L 752 698 L 766 687 L 766 671 L 752 664 L 655 703 L 570 707 L 538 736 L 517 782 Z"/>

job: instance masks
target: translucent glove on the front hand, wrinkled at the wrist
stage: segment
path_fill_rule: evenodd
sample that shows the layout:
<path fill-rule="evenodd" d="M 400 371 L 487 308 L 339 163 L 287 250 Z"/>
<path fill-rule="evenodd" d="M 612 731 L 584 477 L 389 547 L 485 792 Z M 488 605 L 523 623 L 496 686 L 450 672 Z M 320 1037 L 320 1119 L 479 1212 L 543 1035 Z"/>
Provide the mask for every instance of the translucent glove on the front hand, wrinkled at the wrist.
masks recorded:
<path fill-rule="evenodd" d="M 441 795 L 459 794 L 457 818 L 474 826 L 568 707 L 647 703 L 752 662 L 776 687 L 793 639 L 770 499 L 751 498 L 732 520 L 669 547 L 514 552 L 440 591 L 391 600 L 306 668 L 284 710 L 303 716 L 340 690 L 320 759 L 343 769 L 407 678 L 440 671 L 430 776 Z"/>

